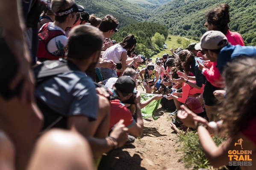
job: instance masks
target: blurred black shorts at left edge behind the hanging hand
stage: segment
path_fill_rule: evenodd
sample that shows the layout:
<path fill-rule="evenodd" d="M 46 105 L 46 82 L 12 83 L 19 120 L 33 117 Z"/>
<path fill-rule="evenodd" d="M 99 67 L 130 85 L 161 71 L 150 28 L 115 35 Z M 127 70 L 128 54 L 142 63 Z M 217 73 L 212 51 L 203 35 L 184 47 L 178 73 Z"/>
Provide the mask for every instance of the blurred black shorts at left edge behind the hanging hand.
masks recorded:
<path fill-rule="evenodd" d="M 21 91 L 20 83 L 14 90 L 9 89 L 9 85 L 16 75 L 18 64 L 9 46 L 3 38 L 0 38 L 0 95 L 8 100 Z"/>

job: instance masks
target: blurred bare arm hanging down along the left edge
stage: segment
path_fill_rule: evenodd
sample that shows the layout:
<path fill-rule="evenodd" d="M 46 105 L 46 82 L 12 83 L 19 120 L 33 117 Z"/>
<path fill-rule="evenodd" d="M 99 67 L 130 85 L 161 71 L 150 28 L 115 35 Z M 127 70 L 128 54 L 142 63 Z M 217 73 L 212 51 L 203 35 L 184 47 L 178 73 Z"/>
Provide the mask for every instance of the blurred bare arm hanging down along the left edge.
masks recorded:
<path fill-rule="evenodd" d="M 34 100 L 34 78 L 30 71 L 31 58 L 23 34 L 25 25 L 20 9 L 21 2 L 19 0 L 0 0 L 0 3 L 0 22 L 4 29 L 3 36 L 18 63 L 17 74 L 9 87 L 14 89 L 23 81 L 20 98 L 22 101 L 30 103 Z"/>

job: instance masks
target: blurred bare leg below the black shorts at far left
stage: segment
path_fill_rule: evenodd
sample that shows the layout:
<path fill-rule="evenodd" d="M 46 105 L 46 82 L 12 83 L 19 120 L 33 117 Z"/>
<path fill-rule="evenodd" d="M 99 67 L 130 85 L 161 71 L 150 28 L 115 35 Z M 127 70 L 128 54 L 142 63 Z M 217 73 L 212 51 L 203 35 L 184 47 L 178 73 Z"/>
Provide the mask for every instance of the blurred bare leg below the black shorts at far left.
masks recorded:
<path fill-rule="evenodd" d="M 23 103 L 17 97 L 5 101 L 0 96 L 0 129 L 6 132 L 15 145 L 17 170 L 26 167 L 42 119 L 35 103 Z"/>

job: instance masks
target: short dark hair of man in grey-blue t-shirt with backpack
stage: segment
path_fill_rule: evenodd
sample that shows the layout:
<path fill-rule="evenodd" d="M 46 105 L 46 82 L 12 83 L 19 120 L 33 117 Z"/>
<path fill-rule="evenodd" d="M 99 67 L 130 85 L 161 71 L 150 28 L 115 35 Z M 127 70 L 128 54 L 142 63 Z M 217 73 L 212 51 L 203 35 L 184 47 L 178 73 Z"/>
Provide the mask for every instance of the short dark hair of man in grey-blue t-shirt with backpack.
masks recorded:
<path fill-rule="evenodd" d="M 103 34 L 88 24 L 74 27 L 68 38 L 68 58 L 87 59 L 101 50 Z"/>

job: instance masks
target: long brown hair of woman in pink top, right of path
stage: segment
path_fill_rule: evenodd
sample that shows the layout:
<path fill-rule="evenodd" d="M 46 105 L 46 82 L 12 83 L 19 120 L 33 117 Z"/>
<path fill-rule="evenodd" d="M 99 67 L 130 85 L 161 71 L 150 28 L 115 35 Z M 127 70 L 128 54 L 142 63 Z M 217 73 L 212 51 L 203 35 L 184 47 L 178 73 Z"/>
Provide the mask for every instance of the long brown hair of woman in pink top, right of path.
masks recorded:
<path fill-rule="evenodd" d="M 182 62 L 185 73 L 188 74 L 190 65 L 194 60 L 194 54 L 187 49 L 184 49 L 179 53 L 179 60 Z"/>

